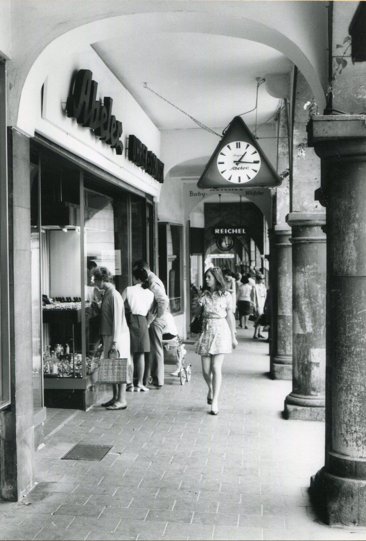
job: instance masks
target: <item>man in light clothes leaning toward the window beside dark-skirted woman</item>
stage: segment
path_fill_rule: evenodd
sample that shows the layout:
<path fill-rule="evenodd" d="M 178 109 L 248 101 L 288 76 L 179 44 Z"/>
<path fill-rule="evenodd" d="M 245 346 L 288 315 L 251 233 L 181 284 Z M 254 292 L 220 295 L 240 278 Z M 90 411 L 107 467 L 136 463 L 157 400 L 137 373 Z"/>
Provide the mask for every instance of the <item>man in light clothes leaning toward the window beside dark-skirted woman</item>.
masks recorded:
<path fill-rule="evenodd" d="M 146 261 L 140 259 L 133 263 L 133 269 L 144 268 L 147 271 L 149 289 L 154 294 L 154 303 L 151 311 L 147 314 L 148 333 L 150 336 L 150 353 L 148 354 L 148 367 L 144 374 L 144 385 L 147 385 L 150 374 L 154 388 L 164 385 L 164 351 L 162 349 L 162 331 L 165 327 L 163 318 L 169 306 L 169 299 L 165 292 L 164 283 L 156 274 L 150 271 Z"/>

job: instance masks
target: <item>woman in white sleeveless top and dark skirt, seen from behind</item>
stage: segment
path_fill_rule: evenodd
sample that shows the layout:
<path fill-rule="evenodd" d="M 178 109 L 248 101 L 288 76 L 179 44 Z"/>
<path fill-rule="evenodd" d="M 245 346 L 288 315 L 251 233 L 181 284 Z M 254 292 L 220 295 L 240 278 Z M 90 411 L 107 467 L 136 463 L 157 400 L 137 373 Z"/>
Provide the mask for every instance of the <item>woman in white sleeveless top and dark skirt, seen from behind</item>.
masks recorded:
<path fill-rule="evenodd" d="M 150 338 L 146 315 L 154 302 L 154 294 L 148 289 L 146 269 L 134 269 L 133 286 L 126 287 L 122 293 L 125 313 L 131 340 L 131 371 L 135 372 L 137 385 L 127 386 L 127 391 L 148 391 L 143 385 L 145 353 L 150 351 Z"/>

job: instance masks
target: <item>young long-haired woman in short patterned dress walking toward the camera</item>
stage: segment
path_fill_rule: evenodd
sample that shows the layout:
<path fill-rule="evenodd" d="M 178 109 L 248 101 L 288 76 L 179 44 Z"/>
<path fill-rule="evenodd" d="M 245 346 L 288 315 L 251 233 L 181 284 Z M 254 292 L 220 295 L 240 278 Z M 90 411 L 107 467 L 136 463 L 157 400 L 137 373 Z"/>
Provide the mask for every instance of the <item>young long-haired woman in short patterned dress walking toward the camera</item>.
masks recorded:
<path fill-rule="evenodd" d="M 236 347 L 238 342 L 235 338 L 232 296 L 226 291 L 221 269 L 208 269 L 204 281 L 194 313 L 198 317 L 202 312 L 202 331 L 196 353 L 201 355 L 202 373 L 208 386 L 207 404 L 211 404 L 211 415 L 217 415 L 223 357 L 225 353 L 231 353 L 232 346 Z"/>

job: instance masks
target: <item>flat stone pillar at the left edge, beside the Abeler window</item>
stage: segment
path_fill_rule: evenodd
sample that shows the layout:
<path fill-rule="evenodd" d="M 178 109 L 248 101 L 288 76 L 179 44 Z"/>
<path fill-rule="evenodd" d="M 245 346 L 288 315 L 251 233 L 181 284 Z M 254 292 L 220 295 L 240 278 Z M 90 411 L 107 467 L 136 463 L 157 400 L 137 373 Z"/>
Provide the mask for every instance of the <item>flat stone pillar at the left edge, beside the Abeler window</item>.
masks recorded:
<path fill-rule="evenodd" d="M 29 138 L 8 128 L 10 399 L 0 412 L 0 495 L 34 484 Z"/>

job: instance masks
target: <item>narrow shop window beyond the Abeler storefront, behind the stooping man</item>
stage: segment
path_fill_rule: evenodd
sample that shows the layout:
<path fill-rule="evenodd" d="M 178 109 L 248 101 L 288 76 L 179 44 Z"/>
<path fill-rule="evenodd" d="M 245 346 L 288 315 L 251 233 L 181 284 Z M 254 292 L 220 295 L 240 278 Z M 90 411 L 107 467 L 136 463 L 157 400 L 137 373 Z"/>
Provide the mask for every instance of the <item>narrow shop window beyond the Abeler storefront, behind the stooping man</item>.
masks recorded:
<path fill-rule="evenodd" d="M 165 285 L 172 314 L 184 311 L 183 226 L 159 223 L 159 278 Z"/>

